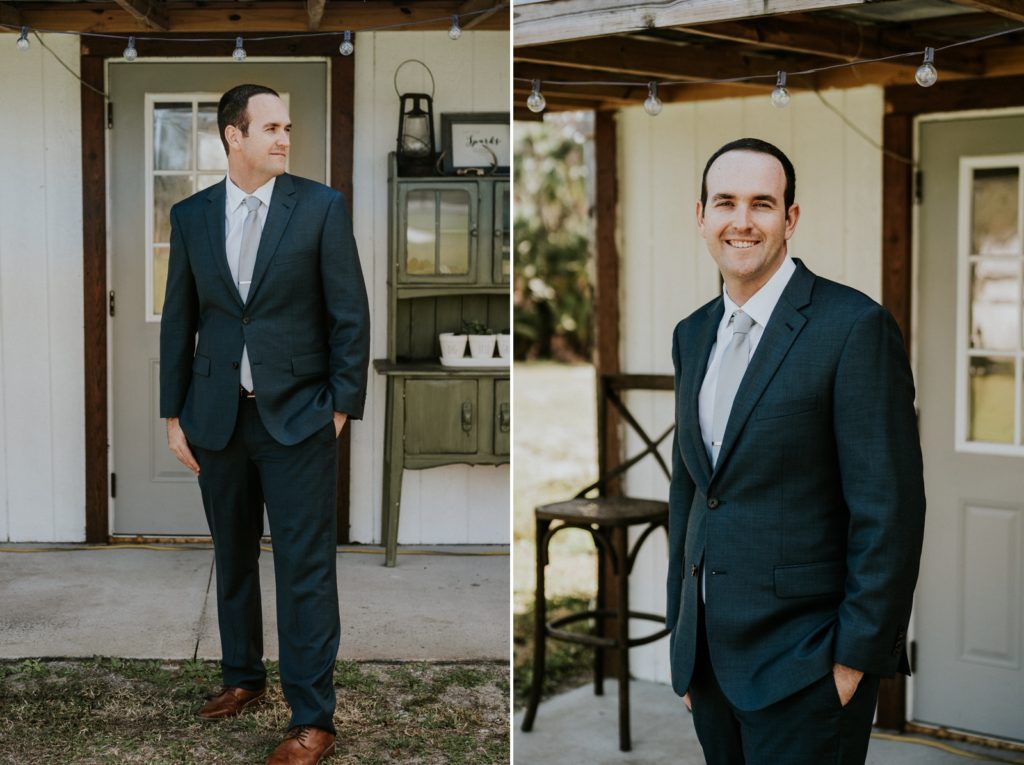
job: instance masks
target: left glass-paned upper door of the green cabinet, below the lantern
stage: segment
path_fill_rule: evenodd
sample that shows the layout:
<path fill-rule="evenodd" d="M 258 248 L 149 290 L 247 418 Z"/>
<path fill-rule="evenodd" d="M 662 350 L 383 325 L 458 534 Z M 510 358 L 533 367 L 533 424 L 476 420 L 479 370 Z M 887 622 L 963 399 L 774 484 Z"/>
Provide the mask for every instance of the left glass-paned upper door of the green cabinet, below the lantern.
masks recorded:
<path fill-rule="evenodd" d="M 475 281 L 476 207 L 475 184 L 404 186 L 398 211 L 399 281 Z"/>

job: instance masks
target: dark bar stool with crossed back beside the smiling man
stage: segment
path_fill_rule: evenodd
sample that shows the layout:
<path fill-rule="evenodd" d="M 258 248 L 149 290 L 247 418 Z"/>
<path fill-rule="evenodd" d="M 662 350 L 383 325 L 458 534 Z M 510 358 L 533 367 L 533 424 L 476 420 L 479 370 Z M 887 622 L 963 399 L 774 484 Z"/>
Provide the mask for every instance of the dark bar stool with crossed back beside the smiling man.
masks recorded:
<path fill-rule="evenodd" d="M 647 620 L 665 624 L 665 615 L 630 610 L 630 572 L 637 554 L 647 538 L 657 528 L 669 529 L 669 503 L 657 500 L 642 500 L 632 497 L 607 496 L 608 484 L 644 457 L 652 455 L 663 472 L 671 479 L 672 472 L 665 463 L 657 447 L 675 430 L 673 423 L 657 438 L 650 438 L 637 420 L 626 408 L 620 392 L 623 390 L 672 390 L 670 375 L 602 375 L 598 394 L 598 437 L 601 443 L 601 459 L 598 480 L 581 491 L 573 499 L 542 505 L 536 508 L 537 523 L 537 590 L 534 618 L 534 682 L 530 687 L 529 703 L 522 721 L 522 730 L 534 727 L 537 708 L 544 688 L 546 639 L 563 640 L 570 643 L 590 645 L 594 648 L 594 693 L 604 694 L 604 651 L 614 650 L 618 660 L 618 749 L 632 749 L 630 737 L 630 664 L 629 650 L 639 645 L 658 640 L 671 630 L 662 629 L 640 638 L 630 638 L 631 619 Z M 606 403 L 610 403 L 623 420 L 640 436 L 645 449 L 617 465 L 606 469 L 604 443 L 606 442 Z M 597 492 L 596 497 L 587 495 Z M 636 543 L 629 545 L 629 529 L 645 525 Z M 588 532 L 597 548 L 597 604 L 596 608 L 578 611 L 551 622 L 547 621 L 545 600 L 545 567 L 548 564 L 548 547 L 551 539 L 565 528 L 582 528 Z M 606 602 L 605 580 L 607 566 L 611 566 L 617 590 L 614 607 Z M 626 618 L 622 618 L 626 614 Z M 614 619 L 614 636 L 604 635 L 605 620 Z M 569 632 L 562 629 L 570 624 L 593 621 L 592 634 Z"/>

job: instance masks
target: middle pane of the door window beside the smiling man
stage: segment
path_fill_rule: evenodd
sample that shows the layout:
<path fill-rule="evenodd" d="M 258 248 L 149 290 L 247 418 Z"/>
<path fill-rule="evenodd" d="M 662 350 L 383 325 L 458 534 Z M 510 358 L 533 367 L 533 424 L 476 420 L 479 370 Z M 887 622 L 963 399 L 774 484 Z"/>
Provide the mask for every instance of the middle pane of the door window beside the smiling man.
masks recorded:
<path fill-rule="evenodd" d="M 1017 350 L 1021 291 L 1016 258 L 981 258 L 971 264 L 971 347 Z"/>

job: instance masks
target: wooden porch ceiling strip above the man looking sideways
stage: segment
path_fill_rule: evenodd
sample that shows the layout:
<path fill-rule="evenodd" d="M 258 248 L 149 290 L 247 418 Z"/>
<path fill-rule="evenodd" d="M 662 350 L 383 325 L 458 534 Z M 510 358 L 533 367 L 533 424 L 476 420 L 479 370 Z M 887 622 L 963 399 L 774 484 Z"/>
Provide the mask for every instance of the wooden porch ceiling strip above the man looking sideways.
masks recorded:
<path fill-rule="evenodd" d="M 508 0 L 0 0 L 0 25 L 108 34 L 446 30 L 456 14 L 465 30 L 509 29 Z"/>

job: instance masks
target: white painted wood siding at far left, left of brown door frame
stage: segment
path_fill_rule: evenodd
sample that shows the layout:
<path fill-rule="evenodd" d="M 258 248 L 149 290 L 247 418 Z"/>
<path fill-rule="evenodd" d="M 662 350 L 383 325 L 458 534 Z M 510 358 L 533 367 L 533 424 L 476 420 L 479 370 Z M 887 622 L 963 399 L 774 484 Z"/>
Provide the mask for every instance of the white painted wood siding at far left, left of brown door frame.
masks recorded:
<path fill-rule="evenodd" d="M 0 541 L 85 539 L 79 83 L 0 35 Z M 78 70 L 78 38 L 44 40 Z"/>

